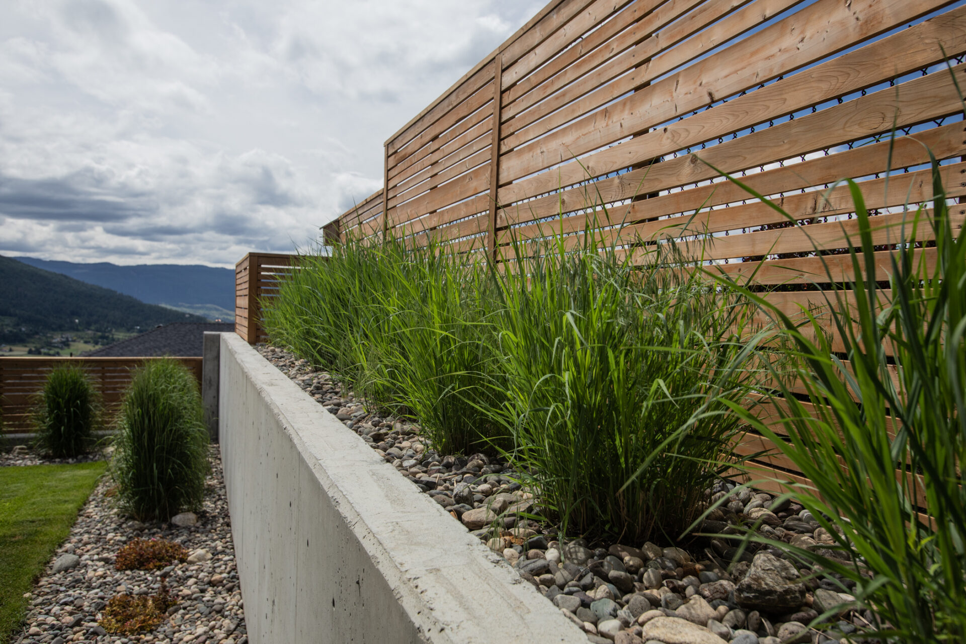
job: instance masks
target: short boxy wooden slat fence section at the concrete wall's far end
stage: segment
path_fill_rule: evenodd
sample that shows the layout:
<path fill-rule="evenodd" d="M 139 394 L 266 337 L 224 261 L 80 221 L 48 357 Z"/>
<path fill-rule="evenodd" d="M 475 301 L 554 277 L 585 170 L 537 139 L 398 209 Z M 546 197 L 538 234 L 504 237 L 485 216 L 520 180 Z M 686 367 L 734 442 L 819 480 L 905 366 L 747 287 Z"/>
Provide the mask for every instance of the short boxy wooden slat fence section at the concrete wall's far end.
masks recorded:
<path fill-rule="evenodd" d="M 235 332 L 248 344 L 268 340 L 261 303 L 278 293 L 279 280 L 296 267 L 298 255 L 278 253 L 248 253 L 235 265 Z"/>

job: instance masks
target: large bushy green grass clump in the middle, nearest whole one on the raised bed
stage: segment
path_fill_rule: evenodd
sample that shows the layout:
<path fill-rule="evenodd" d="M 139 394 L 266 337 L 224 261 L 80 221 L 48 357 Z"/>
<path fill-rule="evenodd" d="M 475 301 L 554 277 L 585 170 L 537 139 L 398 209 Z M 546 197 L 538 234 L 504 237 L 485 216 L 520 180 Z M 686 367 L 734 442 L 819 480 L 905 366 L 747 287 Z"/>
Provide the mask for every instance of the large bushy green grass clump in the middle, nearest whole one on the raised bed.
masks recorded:
<path fill-rule="evenodd" d="M 518 244 L 501 273 L 508 457 L 566 533 L 676 541 L 732 457 L 750 378 L 725 367 L 751 309 L 673 244 Z M 710 403 L 703 413 L 695 409 Z"/>

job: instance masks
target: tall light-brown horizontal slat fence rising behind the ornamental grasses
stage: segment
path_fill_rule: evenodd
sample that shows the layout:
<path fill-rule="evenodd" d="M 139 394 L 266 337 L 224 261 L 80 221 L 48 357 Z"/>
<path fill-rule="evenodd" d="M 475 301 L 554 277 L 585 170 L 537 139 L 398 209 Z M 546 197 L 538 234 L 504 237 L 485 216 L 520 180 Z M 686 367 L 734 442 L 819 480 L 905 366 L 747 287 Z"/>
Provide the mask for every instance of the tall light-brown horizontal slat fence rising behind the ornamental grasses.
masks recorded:
<path fill-rule="evenodd" d="M 433 236 L 499 261 L 547 226 L 577 244 L 592 218 L 627 252 L 700 243 L 720 270 L 788 291 L 823 274 L 813 244 L 849 268 L 854 210 L 834 182 L 850 178 L 881 217 L 887 279 L 903 206 L 932 197 L 926 148 L 954 227 L 966 218 L 964 54 L 962 0 L 554 0 L 385 142 L 384 190 L 327 238 Z"/>

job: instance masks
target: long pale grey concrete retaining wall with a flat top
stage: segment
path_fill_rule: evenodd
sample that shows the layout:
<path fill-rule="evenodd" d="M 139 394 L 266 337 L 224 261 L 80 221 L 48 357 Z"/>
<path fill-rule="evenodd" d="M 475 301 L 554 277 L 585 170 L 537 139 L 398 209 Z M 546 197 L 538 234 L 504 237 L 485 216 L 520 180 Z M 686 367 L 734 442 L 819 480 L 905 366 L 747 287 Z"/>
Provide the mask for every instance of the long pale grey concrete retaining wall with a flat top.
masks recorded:
<path fill-rule="evenodd" d="M 572 642 L 582 631 L 234 333 L 218 433 L 252 644 Z"/>

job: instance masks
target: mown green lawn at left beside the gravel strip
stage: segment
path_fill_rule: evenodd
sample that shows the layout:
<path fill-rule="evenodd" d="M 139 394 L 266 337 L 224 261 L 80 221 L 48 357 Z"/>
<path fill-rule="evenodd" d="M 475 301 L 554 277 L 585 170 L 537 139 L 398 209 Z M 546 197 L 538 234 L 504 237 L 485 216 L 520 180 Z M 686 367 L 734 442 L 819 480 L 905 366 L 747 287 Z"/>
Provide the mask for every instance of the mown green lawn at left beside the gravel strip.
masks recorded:
<path fill-rule="evenodd" d="M 20 625 L 34 579 L 71 532 L 105 462 L 0 467 L 0 644 Z"/>

